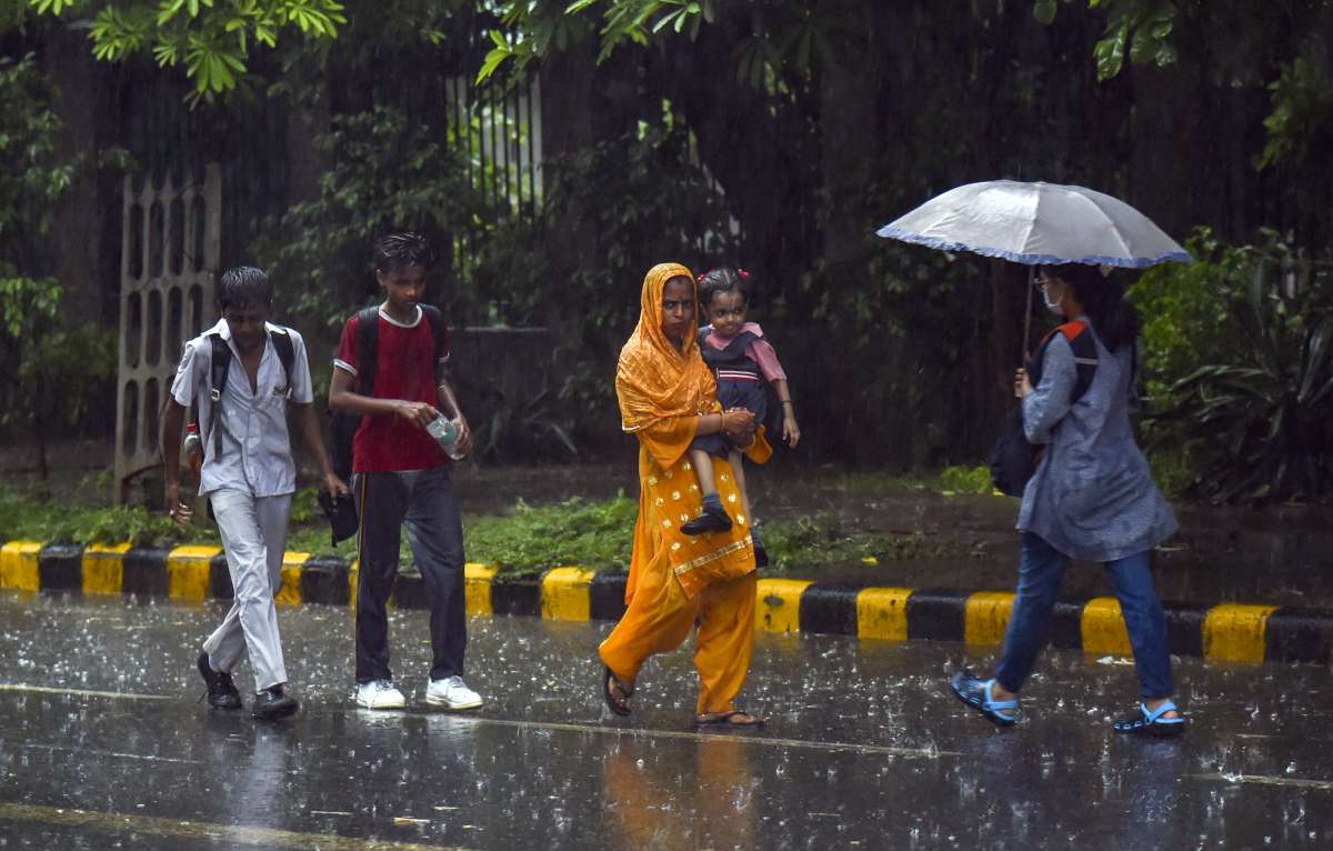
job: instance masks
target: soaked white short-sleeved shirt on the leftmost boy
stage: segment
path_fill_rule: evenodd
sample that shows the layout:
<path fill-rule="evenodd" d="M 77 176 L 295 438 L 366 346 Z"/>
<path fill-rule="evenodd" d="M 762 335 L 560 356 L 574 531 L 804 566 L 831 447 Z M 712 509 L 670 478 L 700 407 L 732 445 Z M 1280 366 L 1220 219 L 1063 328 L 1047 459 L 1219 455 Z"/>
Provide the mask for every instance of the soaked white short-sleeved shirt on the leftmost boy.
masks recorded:
<path fill-rule="evenodd" d="M 292 328 L 265 323 L 265 332 L 284 329 L 292 339 L 292 373 L 283 372 L 283 361 L 273 348 L 273 340 L 264 335 L 264 355 L 259 361 L 257 392 L 251 392 L 249 376 L 241 365 L 240 352 L 232 343 L 227 320 L 185 344 L 176 367 L 176 380 L 171 395 L 184 407 L 199 403 L 199 431 L 204 440 L 204 468 L 200 472 L 199 492 L 211 494 L 221 488 L 248 491 L 255 496 L 280 496 L 296 491 L 296 463 L 292 460 L 292 442 L 287 431 L 287 384 L 292 384 L 292 401 L 309 403 L 311 367 L 305 356 L 305 341 Z M 220 333 L 232 349 L 232 364 L 227 369 L 227 388 L 223 389 L 217 427 L 223 438 L 223 452 L 215 458 L 213 435 L 208 434 L 212 411 L 209 397 L 213 344 L 208 335 Z"/>

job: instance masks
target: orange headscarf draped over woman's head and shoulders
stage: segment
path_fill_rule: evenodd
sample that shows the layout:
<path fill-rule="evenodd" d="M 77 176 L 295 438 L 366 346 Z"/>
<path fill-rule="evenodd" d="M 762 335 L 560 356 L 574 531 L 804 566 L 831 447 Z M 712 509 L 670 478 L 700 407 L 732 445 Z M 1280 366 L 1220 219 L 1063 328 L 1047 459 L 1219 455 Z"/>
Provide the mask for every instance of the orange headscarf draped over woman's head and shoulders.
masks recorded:
<path fill-rule="evenodd" d="M 663 332 L 663 291 L 666 281 L 684 277 L 694 287 L 694 276 L 678 263 L 659 263 L 644 277 L 639 327 L 620 349 L 616 367 L 616 395 L 620 423 L 637 432 L 655 423 L 709 413 L 717 409 L 717 384 L 698 353 L 698 293 L 694 292 L 694 321 L 677 349 Z"/>

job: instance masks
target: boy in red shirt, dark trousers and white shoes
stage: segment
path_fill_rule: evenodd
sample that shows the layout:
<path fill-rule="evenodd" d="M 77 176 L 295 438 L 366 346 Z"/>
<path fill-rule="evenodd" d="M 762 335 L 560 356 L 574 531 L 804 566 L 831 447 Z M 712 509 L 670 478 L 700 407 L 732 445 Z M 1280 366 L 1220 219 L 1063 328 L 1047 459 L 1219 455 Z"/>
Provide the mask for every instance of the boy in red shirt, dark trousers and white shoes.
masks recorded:
<path fill-rule="evenodd" d="M 361 523 L 355 699 L 369 710 L 400 708 L 405 703 L 389 671 L 385 615 L 399 570 L 403 526 L 431 606 L 433 662 L 425 700 L 451 710 L 481 706 L 481 696 L 463 682 L 468 632 L 463 524 L 452 462 L 427 431 L 443 411 L 459 425 L 456 446 L 461 454 L 472 443 L 468 421 L 445 377 L 449 341 L 443 319 L 435 307 L 421 304 L 433 259 L 419 233 L 391 233 L 376 241 L 376 279 L 385 300 L 377 311 L 347 321 L 329 384 L 329 407 L 361 416 L 352 443 L 353 494 Z M 376 325 L 364 328 L 364 320 Z"/>

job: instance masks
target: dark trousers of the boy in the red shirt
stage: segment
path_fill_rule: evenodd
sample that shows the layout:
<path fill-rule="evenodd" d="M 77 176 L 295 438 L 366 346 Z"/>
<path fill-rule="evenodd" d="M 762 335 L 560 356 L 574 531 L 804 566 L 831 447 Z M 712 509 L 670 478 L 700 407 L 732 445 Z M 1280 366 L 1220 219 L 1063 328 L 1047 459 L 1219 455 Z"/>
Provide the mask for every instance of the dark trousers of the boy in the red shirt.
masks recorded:
<path fill-rule="evenodd" d="M 463 523 L 448 467 L 357 474 L 356 682 L 392 679 L 385 606 L 399 572 L 400 528 L 431 606 L 431 679 L 463 676 L 468 647 Z"/>

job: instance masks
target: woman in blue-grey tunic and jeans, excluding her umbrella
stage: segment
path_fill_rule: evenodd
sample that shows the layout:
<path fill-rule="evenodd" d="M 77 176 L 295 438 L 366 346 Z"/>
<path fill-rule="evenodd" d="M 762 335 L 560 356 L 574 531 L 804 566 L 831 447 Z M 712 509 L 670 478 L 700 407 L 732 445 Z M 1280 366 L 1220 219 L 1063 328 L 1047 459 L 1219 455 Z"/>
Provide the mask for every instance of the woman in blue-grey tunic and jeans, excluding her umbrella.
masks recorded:
<path fill-rule="evenodd" d="M 1024 432 L 1044 446 L 1022 494 L 1018 530 L 1022 559 L 1018 592 L 994 678 L 969 671 L 953 691 L 998 726 L 1013 724 L 1018 691 L 1045 643 L 1050 612 L 1069 559 L 1105 564 L 1120 599 L 1142 702 L 1113 727 L 1120 732 L 1177 735 L 1185 718 L 1172 702 L 1166 618 L 1153 587 L 1149 552 L 1176 532 L 1176 519 L 1153 484 L 1129 423 L 1137 371 L 1138 315 L 1124 287 L 1096 265 L 1038 267 L 1046 307 L 1090 333 L 1096 368 L 1088 389 L 1072 401 L 1078 364 L 1069 339 L 1053 333 L 1014 379 L 1022 399 Z M 1069 325 L 1066 325 L 1069 328 Z"/>

